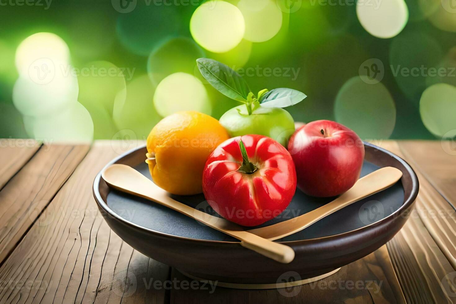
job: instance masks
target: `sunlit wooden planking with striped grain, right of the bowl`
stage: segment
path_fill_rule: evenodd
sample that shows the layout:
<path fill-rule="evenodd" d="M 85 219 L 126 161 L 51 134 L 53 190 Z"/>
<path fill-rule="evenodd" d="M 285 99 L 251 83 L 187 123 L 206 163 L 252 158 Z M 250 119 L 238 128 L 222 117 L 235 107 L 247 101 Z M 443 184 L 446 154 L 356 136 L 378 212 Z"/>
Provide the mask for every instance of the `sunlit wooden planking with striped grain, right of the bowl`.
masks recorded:
<path fill-rule="evenodd" d="M 383 142 L 382 147 L 410 162 L 420 180 L 420 193 L 414 212 L 403 215 L 409 220 L 387 243 L 394 269 L 407 302 L 455 302 L 456 298 L 446 290 L 456 290 L 456 285 L 445 280 L 446 276 L 455 272 L 453 209 L 425 179 L 410 157 L 402 153 L 399 145 L 388 141 Z M 420 143 L 415 149 L 421 149 Z M 439 212 L 441 216 L 438 216 Z"/>

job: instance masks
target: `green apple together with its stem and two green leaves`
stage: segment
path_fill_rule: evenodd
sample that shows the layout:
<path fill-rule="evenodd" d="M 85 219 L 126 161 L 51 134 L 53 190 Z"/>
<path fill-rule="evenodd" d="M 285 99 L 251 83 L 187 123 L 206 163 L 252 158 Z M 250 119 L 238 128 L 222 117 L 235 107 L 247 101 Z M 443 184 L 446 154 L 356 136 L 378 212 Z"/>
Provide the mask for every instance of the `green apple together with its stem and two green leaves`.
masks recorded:
<path fill-rule="evenodd" d="M 232 136 L 259 134 L 275 139 L 285 146 L 295 124 L 290 113 L 283 108 L 306 98 L 306 94 L 289 89 L 263 89 L 255 96 L 247 82 L 237 72 L 213 59 L 199 58 L 197 66 L 212 87 L 229 98 L 244 103 L 228 110 L 220 118 L 220 124 Z"/>

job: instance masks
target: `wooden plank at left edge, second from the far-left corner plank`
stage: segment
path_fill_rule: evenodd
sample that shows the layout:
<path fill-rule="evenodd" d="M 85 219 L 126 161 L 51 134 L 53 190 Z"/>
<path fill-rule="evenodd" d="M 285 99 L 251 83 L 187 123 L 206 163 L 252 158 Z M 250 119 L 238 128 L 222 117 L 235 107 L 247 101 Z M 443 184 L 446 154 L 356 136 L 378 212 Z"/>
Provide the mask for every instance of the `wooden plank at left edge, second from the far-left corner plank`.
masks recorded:
<path fill-rule="evenodd" d="M 87 145 L 43 146 L 0 191 L 0 265 L 73 173 L 88 149 Z"/>

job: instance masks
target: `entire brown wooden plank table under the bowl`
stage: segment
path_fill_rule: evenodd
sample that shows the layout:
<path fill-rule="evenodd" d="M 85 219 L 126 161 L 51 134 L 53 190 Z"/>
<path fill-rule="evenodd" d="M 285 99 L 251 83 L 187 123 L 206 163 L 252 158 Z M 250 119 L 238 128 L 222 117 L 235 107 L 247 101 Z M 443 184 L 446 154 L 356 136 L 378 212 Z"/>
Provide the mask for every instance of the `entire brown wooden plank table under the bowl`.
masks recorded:
<path fill-rule="evenodd" d="M 456 150 L 450 142 L 382 141 L 417 172 L 416 212 L 385 246 L 328 278 L 269 290 L 199 285 L 109 229 L 93 200 L 93 178 L 140 144 L 0 140 L 0 303 L 456 302 Z"/>

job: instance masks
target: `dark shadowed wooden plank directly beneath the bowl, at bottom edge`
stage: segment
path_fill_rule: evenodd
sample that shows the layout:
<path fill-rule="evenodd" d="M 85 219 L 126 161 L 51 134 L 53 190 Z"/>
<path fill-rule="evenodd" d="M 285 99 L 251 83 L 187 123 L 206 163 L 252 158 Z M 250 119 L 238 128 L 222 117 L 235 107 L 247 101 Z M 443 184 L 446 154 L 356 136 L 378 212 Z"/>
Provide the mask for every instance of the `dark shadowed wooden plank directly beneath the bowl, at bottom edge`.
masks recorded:
<path fill-rule="evenodd" d="M 405 303 L 386 246 L 337 273 L 290 289 L 244 290 L 193 286 L 176 269 L 171 273 L 171 303 Z M 175 282 L 175 283 L 174 283 Z"/>

